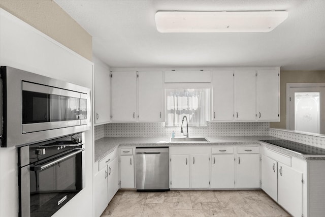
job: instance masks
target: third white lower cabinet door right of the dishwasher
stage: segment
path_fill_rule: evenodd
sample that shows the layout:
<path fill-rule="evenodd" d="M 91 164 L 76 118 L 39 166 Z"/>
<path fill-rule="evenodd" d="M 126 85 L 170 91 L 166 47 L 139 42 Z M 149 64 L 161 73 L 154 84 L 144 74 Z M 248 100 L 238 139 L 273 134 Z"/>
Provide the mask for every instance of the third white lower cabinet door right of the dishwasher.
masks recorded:
<path fill-rule="evenodd" d="M 234 154 L 212 154 L 211 188 L 231 189 L 235 182 Z"/>

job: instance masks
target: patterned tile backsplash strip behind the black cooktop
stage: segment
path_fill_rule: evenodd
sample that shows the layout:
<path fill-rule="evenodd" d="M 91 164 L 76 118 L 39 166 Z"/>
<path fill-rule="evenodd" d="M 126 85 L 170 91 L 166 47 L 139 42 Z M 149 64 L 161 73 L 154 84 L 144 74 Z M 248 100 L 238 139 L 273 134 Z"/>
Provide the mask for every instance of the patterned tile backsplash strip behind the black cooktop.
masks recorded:
<path fill-rule="evenodd" d="M 294 142 L 303 143 L 319 148 L 325 148 L 325 137 L 301 134 L 298 132 L 290 132 L 286 130 L 278 130 L 271 128 L 269 135 L 280 139 L 286 139 Z"/>

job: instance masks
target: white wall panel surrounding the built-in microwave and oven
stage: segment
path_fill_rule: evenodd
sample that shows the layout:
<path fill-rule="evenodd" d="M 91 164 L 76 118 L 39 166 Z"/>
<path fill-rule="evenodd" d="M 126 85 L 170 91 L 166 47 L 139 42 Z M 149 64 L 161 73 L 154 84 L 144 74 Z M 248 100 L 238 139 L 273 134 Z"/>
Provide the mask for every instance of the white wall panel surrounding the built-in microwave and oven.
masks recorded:
<path fill-rule="evenodd" d="M 60 45 L 0 8 L 0 65 L 92 89 L 91 61 Z M 92 99 L 91 99 L 92 100 Z M 93 128 L 85 132 L 86 188 L 54 216 L 92 216 Z M 0 148 L 0 216 L 17 216 L 16 148 Z"/>

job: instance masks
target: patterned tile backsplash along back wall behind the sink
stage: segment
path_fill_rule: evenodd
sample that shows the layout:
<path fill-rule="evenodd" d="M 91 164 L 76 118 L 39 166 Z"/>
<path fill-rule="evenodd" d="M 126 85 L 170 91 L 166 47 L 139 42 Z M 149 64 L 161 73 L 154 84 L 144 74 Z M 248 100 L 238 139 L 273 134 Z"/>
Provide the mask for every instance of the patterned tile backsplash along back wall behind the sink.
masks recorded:
<path fill-rule="evenodd" d="M 102 137 L 154 137 L 182 136 L 180 127 L 165 127 L 158 123 L 108 123 L 104 125 L 104 135 L 100 126 L 95 127 L 95 138 Z M 186 129 L 183 128 L 186 133 Z M 98 131 L 98 132 L 96 132 Z M 207 127 L 189 127 L 189 136 L 267 136 L 269 122 L 207 122 Z"/>

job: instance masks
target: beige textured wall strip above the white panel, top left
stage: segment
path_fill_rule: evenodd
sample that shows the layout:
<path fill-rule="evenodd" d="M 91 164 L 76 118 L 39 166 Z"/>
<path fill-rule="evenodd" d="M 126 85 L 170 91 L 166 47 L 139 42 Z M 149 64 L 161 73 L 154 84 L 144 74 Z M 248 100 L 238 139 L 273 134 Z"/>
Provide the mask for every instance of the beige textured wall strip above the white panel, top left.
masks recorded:
<path fill-rule="evenodd" d="M 51 0 L 1 0 L 0 7 L 42 33 L 92 59 L 92 37 Z"/>

